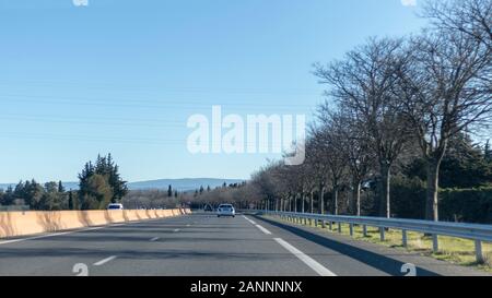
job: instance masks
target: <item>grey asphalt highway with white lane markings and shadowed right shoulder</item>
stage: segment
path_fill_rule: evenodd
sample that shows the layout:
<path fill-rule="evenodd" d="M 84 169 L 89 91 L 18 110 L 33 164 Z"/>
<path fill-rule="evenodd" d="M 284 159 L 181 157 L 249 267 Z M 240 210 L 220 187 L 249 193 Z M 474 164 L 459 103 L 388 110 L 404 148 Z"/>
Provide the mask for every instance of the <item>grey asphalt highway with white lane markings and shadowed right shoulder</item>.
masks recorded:
<path fill-rule="evenodd" d="M 485 275 L 249 215 L 192 214 L 0 240 L 3 276 L 402 276 L 406 263 L 417 275 Z"/>

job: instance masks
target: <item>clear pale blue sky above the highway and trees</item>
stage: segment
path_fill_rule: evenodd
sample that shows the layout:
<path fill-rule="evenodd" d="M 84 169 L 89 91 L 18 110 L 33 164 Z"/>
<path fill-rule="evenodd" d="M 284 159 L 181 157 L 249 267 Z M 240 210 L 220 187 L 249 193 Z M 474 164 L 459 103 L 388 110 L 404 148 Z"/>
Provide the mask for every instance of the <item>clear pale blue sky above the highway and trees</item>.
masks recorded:
<path fill-rule="evenodd" d="M 192 155 L 186 121 L 305 114 L 313 62 L 415 32 L 401 0 L 0 0 L 0 182 L 77 180 L 110 152 L 130 181 L 248 178 L 269 154 Z"/>

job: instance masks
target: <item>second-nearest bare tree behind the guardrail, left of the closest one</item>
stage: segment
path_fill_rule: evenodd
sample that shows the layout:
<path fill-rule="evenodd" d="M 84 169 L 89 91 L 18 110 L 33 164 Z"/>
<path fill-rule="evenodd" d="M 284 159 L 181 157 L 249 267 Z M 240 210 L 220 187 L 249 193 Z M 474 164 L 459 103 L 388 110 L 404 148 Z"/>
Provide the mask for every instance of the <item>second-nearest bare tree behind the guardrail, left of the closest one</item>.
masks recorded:
<path fill-rule="evenodd" d="M 327 96 L 333 97 L 340 109 L 351 110 L 367 131 L 383 178 L 380 213 L 385 213 L 386 205 L 387 217 L 390 217 L 391 165 L 409 140 L 408 126 L 394 108 L 398 98 L 391 92 L 402 44 L 400 39 L 370 39 L 348 52 L 344 60 L 328 67 L 315 65 L 320 83 L 330 85 Z"/>

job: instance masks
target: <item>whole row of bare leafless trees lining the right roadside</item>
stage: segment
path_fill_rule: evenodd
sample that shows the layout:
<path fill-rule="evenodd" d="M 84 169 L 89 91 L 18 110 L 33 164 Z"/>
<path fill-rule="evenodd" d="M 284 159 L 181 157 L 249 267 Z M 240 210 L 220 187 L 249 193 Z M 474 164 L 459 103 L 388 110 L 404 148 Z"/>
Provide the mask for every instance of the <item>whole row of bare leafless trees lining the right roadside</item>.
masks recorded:
<path fill-rule="evenodd" d="M 231 189 L 235 201 L 304 212 L 307 200 L 307 210 L 316 204 L 325 213 L 328 196 L 335 214 L 344 205 L 362 215 L 370 204 L 390 217 L 391 186 L 407 174 L 425 181 L 424 217 L 438 220 L 443 160 L 458 170 L 471 157 L 457 154 L 471 154 L 476 164 L 468 166 L 481 167 L 482 178 L 469 184 L 492 183 L 490 146 L 470 139 L 491 136 L 492 1 L 427 1 L 421 14 L 431 25 L 419 34 L 370 38 L 343 59 L 315 64 L 327 100 L 309 128 L 306 162 L 265 167 L 239 188 L 249 196 Z M 362 200 L 366 190 L 371 202 Z"/>

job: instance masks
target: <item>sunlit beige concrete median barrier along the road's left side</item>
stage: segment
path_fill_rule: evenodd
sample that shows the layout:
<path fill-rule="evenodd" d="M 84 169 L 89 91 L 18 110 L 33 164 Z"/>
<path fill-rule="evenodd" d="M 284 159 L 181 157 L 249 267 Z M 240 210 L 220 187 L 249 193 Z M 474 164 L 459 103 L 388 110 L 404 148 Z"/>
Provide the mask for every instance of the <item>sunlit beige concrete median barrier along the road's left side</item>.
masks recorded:
<path fill-rule="evenodd" d="M 0 238 L 173 217 L 189 213 L 191 213 L 189 208 L 0 212 Z"/>

